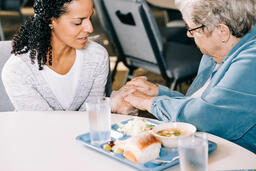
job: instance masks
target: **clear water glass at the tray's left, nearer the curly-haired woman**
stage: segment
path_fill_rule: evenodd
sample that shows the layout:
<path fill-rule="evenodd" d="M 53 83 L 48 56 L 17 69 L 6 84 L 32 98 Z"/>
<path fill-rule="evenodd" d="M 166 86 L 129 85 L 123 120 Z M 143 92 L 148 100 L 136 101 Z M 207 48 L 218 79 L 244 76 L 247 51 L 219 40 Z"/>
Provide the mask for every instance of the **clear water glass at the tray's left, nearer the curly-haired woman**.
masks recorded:
<path fill-rule="evenodd" d="M 91 98 L 86 103 L 86 110 L 89 114 L 91 144 L 100 145 L 110 141 L 110 99 L 107 97 Z"/>

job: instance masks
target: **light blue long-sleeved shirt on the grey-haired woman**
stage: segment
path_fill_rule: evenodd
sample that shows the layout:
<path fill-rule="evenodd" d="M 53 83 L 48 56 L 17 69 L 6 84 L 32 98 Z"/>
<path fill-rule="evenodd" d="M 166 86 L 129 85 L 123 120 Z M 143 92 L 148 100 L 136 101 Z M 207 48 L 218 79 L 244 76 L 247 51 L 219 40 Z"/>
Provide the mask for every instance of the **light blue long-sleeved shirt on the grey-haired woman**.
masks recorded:
<path fill-rule="evenodd" d="M 256 26 L 232 48 L 217 72 L 215 65 L 210 56 L 202 57 L 186 96 L 159 86 L 151 111 L 159 120 L 192 123 L 256 153 Z M 202 96 L 191 98 L 210 76 Z"/>

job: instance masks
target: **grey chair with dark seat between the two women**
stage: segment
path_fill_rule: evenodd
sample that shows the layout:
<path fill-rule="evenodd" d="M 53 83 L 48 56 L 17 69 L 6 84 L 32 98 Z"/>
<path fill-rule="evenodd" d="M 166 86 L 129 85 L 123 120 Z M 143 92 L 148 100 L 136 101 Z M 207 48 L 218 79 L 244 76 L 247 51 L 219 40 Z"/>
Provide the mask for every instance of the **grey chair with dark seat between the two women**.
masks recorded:
<path fill-rule="evenodd" d="M 108 17 L 105 21 L 112 28 L 109 34 L 119 46 L 120 60 L 129 69 L 141 67 L 161 74 L 171 89 L 196 75 L 200 51 L 175 40 L 163 41 L 145 0 L 102 0 L 101 5 Z"/>

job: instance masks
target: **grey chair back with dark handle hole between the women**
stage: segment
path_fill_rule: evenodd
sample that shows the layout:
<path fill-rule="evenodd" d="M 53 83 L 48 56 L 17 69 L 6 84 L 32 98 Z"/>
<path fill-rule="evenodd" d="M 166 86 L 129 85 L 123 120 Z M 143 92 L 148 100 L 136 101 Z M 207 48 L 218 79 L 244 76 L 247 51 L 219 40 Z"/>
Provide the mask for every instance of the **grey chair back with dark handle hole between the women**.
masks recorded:
<path fill-rule="evenodd" d="M 158 59 L 163 60 L 162 39 L 145 0 L 103 2 L 125 57 L 158 65 Z"/>

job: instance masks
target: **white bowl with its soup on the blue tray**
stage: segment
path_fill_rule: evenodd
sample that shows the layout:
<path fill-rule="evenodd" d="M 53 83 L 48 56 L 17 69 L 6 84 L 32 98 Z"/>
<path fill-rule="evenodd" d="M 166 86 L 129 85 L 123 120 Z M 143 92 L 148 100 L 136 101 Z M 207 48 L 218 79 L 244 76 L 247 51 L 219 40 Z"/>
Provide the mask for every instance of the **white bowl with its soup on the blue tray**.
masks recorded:
<path fill-rule="evenodd" d="M 161 141 L 163 146 L 174 148 L 178 145 L 178 138 L 191 136 L 196 132 L 196 127 L 185 122 L 168 122 L 155 126 L 152 134 Z"/>

